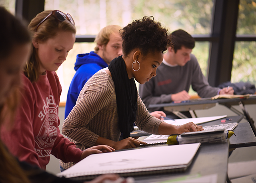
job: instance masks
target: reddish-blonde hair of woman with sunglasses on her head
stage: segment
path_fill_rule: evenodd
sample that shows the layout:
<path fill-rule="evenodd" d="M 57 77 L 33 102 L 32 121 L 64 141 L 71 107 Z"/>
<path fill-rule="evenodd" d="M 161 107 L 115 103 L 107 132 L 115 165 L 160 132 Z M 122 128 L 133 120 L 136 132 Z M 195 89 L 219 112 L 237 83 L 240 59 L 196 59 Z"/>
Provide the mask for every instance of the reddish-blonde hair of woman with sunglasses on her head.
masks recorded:
<path fill-rule="evenodd" d="M 58 31 L 70 31 L 72 33 L 76 33 L 76 28 L 72 25 L 67 19 L 63 22 L 57 20 L 53 15 L 48 17 L 38 28 L 37 25 L 52 12 L 52 10 L 43 11 L 36 15 L 28 25 L 28 30 L 33 33 L 33 40 L 45 42 L 49 38 L 52 38 L 57 35 Z M 36 30 L 37 28 L 37 30 Z M 36 30 L 36 31 L 35 31 Z M 32 54 L 29 60 L 26 63 L 26 67 L 24 68 L 24 74 L 28 79 L 33 83 L 38 80 L 40 69 L 38 55 L 36 53 L 36 49 L 34 45 L 32 45 Z"/>

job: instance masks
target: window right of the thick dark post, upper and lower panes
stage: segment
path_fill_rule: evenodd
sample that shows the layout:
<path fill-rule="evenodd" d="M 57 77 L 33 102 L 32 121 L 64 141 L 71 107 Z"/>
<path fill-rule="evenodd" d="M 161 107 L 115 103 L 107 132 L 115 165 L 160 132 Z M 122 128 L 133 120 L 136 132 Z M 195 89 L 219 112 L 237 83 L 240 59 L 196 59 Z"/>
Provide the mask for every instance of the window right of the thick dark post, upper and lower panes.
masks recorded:
<path fill-rule="evenodd" d="M 240 0 L 237 37 L 256 35 L 256 2 Z M 250 82 L 256 85 L 256 41 L 236 41 L 231 82 Z"/>

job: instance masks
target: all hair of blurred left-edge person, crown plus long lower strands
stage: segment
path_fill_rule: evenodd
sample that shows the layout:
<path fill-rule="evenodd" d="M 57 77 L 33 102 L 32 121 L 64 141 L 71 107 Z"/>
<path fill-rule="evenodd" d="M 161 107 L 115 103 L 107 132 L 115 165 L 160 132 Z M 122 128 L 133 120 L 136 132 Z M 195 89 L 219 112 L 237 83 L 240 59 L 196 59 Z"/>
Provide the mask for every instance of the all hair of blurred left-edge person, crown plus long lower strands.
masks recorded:
<path fill-rule="evenodd" d="M 27 28 L 2 6 L 0 6 L 0 17 L 0 61 L 3 61 L 4 58 L 12 54 L 16 45 L 25 45 L 31 40 Z M 4 106 L 0 106 L 1 127 L 8 117 L 14 116 L 18 98 L 17 88 L 9 98 L 6 98 Z M 0 182 L 30 183 L 27 177 L 28 173 L 21 169 L 17 159 L 8 152 L 1 140 L 0 157 Z"/>

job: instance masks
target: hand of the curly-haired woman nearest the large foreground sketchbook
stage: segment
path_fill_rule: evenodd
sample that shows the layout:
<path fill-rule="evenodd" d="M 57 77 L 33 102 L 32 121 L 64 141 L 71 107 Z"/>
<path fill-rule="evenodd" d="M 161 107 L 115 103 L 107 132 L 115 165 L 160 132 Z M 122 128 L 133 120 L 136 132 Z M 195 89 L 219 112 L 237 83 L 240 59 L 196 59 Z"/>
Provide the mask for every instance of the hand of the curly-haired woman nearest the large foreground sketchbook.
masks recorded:
<path fill-rule="evenodd" d="M 125 138 L 118 142 L 114 142 L 114 149 L 115 150 L 122 150 L 122 149 L 130 149 L 130 148 L 138 148 L 140 144 L 146 145 L 146 142 L 142 142 L 132 137 Z"/>

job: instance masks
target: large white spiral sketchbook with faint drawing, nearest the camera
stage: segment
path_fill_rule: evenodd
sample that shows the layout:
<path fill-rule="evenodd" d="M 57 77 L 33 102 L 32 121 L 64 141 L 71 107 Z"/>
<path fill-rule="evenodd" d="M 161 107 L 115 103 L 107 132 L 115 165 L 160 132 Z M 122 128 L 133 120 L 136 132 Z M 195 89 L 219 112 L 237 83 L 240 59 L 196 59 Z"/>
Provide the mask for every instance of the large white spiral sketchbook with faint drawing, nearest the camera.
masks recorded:
<path fill-rule="evenodd" d="M 200 143 L 154 146 L 92 154 L 57 175 L 85 181 L 107 173 L 118 173 L 126 177 L 185 171 L 199 146 Z"/>

